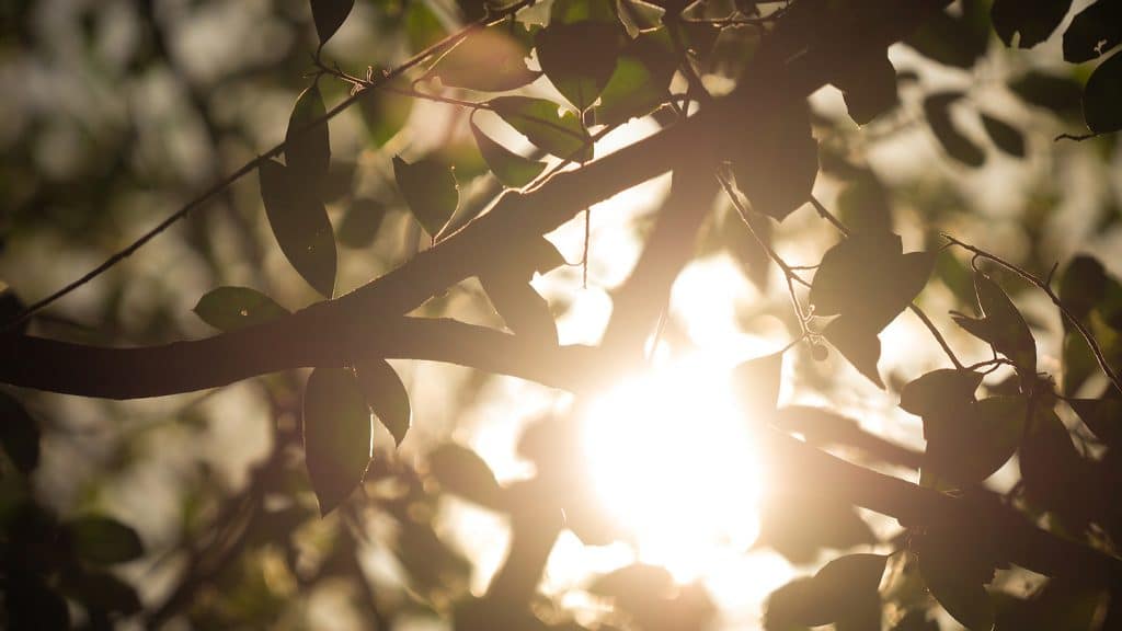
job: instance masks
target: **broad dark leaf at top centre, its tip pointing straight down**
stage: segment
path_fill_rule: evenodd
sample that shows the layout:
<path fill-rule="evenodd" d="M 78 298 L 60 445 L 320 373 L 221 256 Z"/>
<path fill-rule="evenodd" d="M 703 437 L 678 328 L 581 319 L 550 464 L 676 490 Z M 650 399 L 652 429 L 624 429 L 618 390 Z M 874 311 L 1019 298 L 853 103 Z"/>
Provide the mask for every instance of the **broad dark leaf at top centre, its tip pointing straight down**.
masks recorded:
<path fill-rule="evenodd" d="M 617 24 L 551 22 L 534 42 L 545 76 L 570 103 L 585 111 L 608 84 L 622 36 Z"/>

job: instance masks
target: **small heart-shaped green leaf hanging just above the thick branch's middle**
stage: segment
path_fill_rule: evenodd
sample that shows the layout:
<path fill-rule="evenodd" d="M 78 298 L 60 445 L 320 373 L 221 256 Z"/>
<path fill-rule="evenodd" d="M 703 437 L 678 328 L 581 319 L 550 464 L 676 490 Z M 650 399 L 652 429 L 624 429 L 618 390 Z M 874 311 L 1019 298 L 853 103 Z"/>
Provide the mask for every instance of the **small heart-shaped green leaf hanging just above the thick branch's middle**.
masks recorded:
<path fill-rule="evenodd" d="M 452 170 L 432 158 L 410 164 L 394 156 L 394 179 L 413 217 L 436 238 L 460 204 L 460 185 Z"/>

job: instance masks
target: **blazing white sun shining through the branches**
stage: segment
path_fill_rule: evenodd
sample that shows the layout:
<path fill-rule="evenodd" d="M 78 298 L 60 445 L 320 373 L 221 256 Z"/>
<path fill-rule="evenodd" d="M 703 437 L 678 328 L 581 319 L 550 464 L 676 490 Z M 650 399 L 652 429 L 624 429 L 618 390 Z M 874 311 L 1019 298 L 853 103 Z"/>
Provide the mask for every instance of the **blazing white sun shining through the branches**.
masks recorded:
<path fill-rule="evenodd" d="M 622 383 L 589 405 L 581 443 L 638 560 L 688 582 L 755 541 L 762 472 L 727 365 L 695 356 Z"/>

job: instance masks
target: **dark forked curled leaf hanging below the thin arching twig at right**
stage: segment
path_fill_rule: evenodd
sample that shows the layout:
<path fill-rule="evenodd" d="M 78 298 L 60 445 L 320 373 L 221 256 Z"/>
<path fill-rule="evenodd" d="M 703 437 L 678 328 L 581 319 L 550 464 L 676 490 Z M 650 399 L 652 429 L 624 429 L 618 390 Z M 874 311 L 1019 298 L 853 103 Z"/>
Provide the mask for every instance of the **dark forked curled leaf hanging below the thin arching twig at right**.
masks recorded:
<path fill-rule="evenodd" d="M 971 335 L 993 345 L 994 350 L 1008 357 L 1017 367 L 1021 382 L 1036 377 L 1037 345 L 1032 331 L 1009 295 L 982 272 L 974 273 L 982 319 L 954 316 L 955 322 Z"/>

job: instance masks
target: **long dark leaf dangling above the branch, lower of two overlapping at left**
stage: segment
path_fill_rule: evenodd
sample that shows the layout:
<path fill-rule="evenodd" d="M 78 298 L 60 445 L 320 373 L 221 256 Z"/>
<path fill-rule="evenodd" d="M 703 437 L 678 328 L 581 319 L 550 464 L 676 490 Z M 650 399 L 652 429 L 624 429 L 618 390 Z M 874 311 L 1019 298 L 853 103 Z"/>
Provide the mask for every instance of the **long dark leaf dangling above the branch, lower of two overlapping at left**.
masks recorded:
<path fill-rule="evenodd" d="M 323 202 L 283 164 L 261 164 L 261 198 L 273 235 L 288 263 L 324 298 L 335 285 L 335 239 Z"/>

